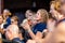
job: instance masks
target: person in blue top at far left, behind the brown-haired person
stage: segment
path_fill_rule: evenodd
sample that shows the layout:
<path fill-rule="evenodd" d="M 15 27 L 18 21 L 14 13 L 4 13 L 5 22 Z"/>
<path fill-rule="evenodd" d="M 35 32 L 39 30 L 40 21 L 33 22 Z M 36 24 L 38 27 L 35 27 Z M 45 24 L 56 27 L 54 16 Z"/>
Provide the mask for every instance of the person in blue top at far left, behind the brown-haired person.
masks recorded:
<path fill-rule="evenodd" d="M 3 10 L 3 23 L 4 23 L 4 28 L 6 28 L 9 25 L 11 25 L 11 18 L 10 18 L 10 15 L 11 15 L 11 12 L 9 10 Z"/>

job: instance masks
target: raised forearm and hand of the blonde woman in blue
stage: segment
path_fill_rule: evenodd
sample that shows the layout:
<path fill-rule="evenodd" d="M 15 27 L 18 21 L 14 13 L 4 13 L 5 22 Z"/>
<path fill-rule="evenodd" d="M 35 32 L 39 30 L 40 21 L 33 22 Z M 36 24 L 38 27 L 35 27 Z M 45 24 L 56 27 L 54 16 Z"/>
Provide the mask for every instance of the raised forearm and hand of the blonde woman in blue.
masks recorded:
<path fill-rule="evenodd" d="M 25 30 L 28 31 L 28 33 L 29 33 L 29 35 L 31 37 L 31 39 L 35 39 L 36 35 L 35 35 L 34 32 L 31 31 L 30 26 L 28 25 L 28 22 L 27 22 L 26 19 L 23 22 L 23 24 L 21 24 L 21 26 L 22 26 Z"/>

